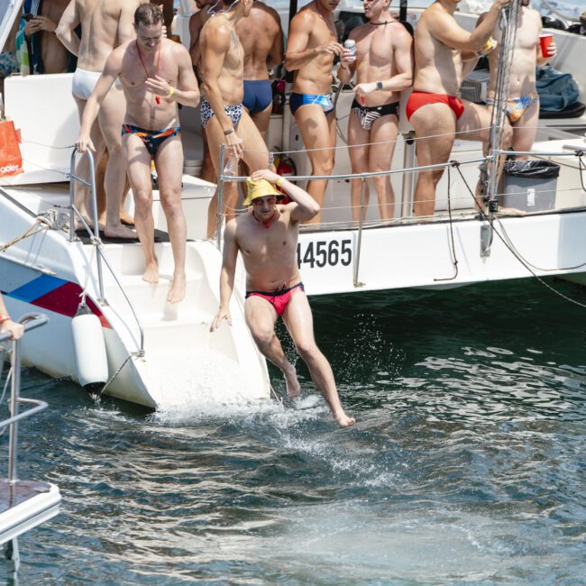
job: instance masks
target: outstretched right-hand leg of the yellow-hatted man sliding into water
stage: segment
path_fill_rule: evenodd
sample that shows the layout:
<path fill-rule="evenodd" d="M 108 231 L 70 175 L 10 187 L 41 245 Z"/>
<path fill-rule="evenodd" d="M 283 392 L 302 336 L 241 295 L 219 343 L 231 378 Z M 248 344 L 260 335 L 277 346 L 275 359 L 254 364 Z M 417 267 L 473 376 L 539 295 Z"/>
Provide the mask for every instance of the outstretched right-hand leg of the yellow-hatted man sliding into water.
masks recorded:
<path fill-rule="evenodd" d="M 299 355 L 307 364 L 317 389 L 322 393 L 332 409 L 334 419 L 339 426 L 352 426 L 355 419 L 348 417 L 343 411 L 338 391 L 335 387 L 332 367 L 317 347 L 314 338 L 313 316 L 305 293 L 298 291 L 291 295 L 291 300 L 283 313 L 283 320 L 287 325 L 291 338 L 293 338 Z"/>

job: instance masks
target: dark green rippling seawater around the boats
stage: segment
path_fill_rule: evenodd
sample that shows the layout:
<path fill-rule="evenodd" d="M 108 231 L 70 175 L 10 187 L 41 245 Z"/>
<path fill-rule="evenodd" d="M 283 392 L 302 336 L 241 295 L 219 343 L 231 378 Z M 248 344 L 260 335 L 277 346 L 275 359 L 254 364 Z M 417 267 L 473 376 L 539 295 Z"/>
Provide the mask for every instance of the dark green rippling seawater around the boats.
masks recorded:
<path fill-rule="evenodd" d="M 155 414 L 24 371 L 21 478 L 63 505 L 20 583 L 586 583 L 586 309 L 529 280 L 312 304 L 352 429 L 303 366 L 304 409 Z"/>

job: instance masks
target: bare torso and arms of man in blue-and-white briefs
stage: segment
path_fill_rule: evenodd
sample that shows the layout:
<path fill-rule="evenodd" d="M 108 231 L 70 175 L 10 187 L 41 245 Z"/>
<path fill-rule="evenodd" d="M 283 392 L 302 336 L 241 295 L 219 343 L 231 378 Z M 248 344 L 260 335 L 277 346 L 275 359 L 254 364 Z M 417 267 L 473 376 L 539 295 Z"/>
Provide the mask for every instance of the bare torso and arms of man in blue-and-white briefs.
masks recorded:
<path fill-rule="evenodd" d="M 327 5 L 329 10 L 320 8 L 319 3 Z M 331 91 L 335 52 L 325 48 L 329 43 L 338 45 L 332 13 L 337 5 L 338 2 L 314 0 L 291 21 L 286 67 L 297 69 L 293 84 L 296 93 L 323 95 Z M 295 45 L 292 45 L 293 42 Z M 297 53 L 298 57 L 292 53 Z"/>

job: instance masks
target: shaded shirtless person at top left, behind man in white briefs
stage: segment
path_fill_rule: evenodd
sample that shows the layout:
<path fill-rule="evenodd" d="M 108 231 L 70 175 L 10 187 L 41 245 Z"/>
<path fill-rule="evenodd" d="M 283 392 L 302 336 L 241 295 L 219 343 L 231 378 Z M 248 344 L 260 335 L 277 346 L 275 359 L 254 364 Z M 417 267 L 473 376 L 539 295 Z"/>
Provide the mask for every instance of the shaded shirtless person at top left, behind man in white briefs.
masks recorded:
<path fill-rule="evenodd" d="M 66 73 L 75 69 L 75 57 L 56 35 L 57 25 L 68 4 L 69 0 L 24 2 L 24 14 L 32 14 L 23 27 L 24 35 L 31 42 L 32 73 Z"/>

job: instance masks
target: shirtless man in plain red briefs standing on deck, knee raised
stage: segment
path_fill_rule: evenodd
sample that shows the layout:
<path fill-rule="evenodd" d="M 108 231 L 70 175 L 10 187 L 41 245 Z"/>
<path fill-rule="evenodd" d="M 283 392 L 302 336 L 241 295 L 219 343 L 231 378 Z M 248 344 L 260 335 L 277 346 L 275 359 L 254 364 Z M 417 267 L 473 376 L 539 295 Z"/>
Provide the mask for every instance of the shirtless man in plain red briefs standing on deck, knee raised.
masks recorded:
<path fill-rule="evenodd" d="M 494 0 L 484 21 L 473 31 L 462 29 L 453 18 L 460 0 L 436 0 L 426 8 L 415 32 L 415 83 L 407 102 L 407 119 L 415 129 L 419 165 L 445 163 L 450 158 L 455 133 L 458 138 L 485 142 L 490 113 L 485 107 L 460 100 L 462 53 L 480 52 L 490 39 L 500 10 L 510 0 Z M 504 131 L 508 148 L 511 130 Z M 435 188 L 444 169 L 419 171 L 415 214 L 434 215 Z M 482 206 L 477 199 L 477 206 Z"/>

